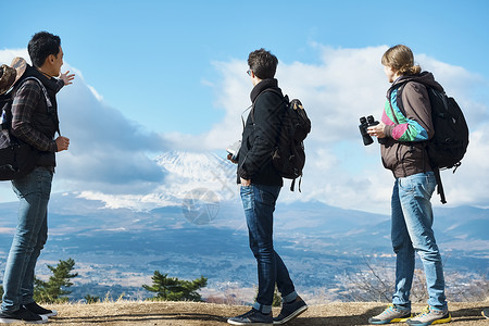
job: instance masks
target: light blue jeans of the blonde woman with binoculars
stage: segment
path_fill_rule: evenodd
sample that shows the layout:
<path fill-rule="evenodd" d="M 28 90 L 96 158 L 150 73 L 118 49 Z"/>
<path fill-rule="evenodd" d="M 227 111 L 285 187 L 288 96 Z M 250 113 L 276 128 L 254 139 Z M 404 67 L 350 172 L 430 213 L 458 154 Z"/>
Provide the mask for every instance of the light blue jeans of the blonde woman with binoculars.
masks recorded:
<path fill-rule="evenodd" d="M 447 309 L 440 252 L 432 231 L 432 172 L 396 179 L 392 191 L 392 247 L 396 252 L 396 292 L 392 303 L 410 309 L 415 252 L 426 276 L 428 304 Z"/>

